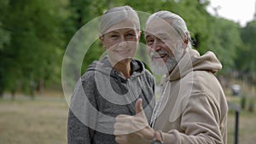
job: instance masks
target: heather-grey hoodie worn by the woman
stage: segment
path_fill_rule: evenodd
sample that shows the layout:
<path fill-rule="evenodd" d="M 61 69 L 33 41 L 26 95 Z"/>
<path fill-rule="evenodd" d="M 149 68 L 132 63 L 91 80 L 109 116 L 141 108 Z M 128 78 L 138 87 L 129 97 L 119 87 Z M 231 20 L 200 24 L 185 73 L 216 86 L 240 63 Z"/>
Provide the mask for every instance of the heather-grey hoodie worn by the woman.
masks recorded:
<path fill-rule="evenodd" d="M 114 144 L 114 118 L 135 115 L 143 99 L 148 122 L 154 109 L 154 77 L 139 60 L 131 60 L 131 77 L 113 69 L 108 56 L 94 61 L 73 92 L 67 124 L 69 144 Z"/>

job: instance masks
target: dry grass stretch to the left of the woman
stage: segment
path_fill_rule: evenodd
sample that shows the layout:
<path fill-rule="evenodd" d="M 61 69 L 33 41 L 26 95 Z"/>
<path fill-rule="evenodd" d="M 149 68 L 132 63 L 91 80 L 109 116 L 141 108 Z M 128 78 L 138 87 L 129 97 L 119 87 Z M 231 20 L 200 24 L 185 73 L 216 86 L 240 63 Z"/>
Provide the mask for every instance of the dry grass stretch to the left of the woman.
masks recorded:
<path fill-rule="evenodd" d="M 67 102 L 64 98 L 0 101 L 1 144 L 66 144 Z"/>

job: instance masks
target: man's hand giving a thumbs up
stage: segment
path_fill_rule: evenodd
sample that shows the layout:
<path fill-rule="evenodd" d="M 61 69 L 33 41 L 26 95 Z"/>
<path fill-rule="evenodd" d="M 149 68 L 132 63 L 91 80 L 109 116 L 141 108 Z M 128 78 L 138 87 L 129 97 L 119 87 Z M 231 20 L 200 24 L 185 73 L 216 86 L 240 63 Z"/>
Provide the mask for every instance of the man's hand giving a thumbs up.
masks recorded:
<path fill-rule="evenodd" d="M 154 130 L 148 125 L 143 111 L 142 99 L 137 100 L 135 109 L 135 116 L 121 114 L 115 118 L 113 133 L 119 144 L 149 144 L 154 138 Z"/>

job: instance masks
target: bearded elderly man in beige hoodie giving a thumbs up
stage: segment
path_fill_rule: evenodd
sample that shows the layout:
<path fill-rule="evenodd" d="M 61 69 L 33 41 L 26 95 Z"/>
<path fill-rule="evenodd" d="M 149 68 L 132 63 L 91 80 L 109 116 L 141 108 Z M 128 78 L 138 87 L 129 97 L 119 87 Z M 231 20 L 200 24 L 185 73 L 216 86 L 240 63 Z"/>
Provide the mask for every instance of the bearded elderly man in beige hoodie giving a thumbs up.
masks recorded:
<path fill-rule="evenodd" d="M 185 21 L 168 11 L 152 14 L 146 23 L 150 67 L 165 74 L 151 124 L 136 103 L 135 116 L 119 115 L 114 124 L 120 144 L 226 144 L 227 101 L 214 76 L 222 68 L 212 52 L 191 49 Z"/>

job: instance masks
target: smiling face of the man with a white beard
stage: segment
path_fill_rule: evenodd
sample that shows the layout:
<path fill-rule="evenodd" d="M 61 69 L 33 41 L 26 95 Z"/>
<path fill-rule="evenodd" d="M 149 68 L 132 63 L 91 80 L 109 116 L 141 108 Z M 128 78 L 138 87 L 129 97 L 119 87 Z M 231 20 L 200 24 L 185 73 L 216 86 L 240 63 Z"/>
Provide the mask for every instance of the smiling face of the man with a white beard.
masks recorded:
<path fill-rule="evenodd" d="M 145 32 L 150 68 L 158 75 L 172 72 L 183 55 L 183 40 L 165 20 L 152 20 Z"/>

